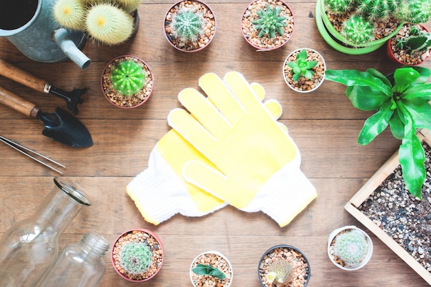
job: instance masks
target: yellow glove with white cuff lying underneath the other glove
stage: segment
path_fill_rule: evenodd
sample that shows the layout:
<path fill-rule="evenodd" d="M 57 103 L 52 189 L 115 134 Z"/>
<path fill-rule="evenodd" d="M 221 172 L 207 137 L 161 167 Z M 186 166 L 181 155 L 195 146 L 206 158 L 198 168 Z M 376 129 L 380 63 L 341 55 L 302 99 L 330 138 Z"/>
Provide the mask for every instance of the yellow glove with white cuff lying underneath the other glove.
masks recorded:
<path fill-rule="evenodd" d="M 255 83 L 251 86 L 260 100 L 263 100 L 263 87 Z M 267 101 L 265 108 L 274 118 L 282 114 L 280 104 L 275 101 Z M 215 110 L 215 107 L 212 109 Z M 223 200 L 182 178 L 182 168 L 189 160 L 199 160 L 215 169 L 202 153 L 171 129 L 151 151 L 148 168 L 127 185 L 127 194 L 147 222 L 157 225 L 176 213 L 202 216 L 226 205 Z"/>

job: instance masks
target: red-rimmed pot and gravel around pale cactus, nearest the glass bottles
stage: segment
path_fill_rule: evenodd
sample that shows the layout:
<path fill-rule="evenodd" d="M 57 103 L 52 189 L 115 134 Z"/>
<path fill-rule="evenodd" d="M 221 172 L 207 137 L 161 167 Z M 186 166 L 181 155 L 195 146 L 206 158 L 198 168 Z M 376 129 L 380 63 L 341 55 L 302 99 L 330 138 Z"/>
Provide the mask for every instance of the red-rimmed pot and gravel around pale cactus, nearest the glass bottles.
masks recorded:
<path fill-rule="evenodd" d="M 139 237 L 138 234 L 143 235 L 143 240 L 147 246 L 149 246 L 149 250 L 151 251 L 151 265 L 148 268 L 148 270 L 143 273 L 142 276 L 137 277 L 138 279 L 134 279 L 136 276 L 130 275 L 129 277 L 126 275 L 126 271 L 124 268 L 122 269 L 121 265 L 118 264 L 118 259 L 121 254 L 121 242 L 125 236 L 128 238 L 133 237 Z M 122 233 L 120 236 L 117 237 L 114 244 L 112 244 L 111 249 L 111 262 L 112 266 L 114 266 L 114 270 L 116 270 L 116 273 L 120 275 L 123 279 L 126 279 L 127 281 L 132 282 L 143 282 L 148 281 L 149 279 L 156 276 L 156 274 L 160 271 L 160 268 L 162 268 L 163 264 L 163 258 L 164 258 L 165 252 L 163 250 L 163 245 L 158 236 L 153 233 L 152 231 L 149 231 L 145 228 L 134 228 L 129 231 L 126 231 L 125 233 Z"/>

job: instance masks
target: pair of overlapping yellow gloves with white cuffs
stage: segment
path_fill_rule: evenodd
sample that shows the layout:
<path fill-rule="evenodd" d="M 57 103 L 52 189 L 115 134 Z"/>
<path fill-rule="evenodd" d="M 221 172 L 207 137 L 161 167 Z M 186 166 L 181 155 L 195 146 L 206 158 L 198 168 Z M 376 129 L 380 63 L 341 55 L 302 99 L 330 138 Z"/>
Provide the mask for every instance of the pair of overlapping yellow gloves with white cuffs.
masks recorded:
<path fill-rule="evenodd" d="M 223 79 L 204 74 L 199 86 L 178 99 L 172 127 L 151 151 L 148 168 L 127 185 L 147 222 L 172 215 L 202 216 L 227 204 L 262 211 L 286 226 L 317 193 L 300 170 L 301 158 L 286 126 L 282 107 L 262 103 L 264 89 L 242 74 Z"/>

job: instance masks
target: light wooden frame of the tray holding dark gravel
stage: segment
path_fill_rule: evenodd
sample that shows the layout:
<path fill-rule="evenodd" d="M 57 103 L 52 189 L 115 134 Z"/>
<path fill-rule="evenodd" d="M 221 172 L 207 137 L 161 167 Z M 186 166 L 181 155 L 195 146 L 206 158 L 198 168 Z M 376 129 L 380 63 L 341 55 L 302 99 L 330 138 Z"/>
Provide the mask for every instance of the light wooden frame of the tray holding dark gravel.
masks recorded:
<path fill-rule="evenodd" d="M 421 140 L 431 146 L 431 132 L 428 130 L 421 130 L 418 133 L 418 137 Z M 400 246 L 395 240 L 386 234 L 377 224 L 372 222 L 364 213 L 359 211 L 359 206 L 367 200 L 370 194 L 379 187 L 379 185 L 386 180 L 386 178 L 399 166 L 398 151 L 394 153 L 382 166 L 381 168 L 361 187 L 359 191 L 353 195 L 344 209 L 353 215 L 361 224 L 364 224 L 368 230 L 374 233 L 379 239 L 386 244 L 392 251 L 395 252 L 401 259 L 404 260 L 414 271 L 416 271 L 428 284 L 431 285 L 431 273 L 428 272 L 419 262 L 412 257 L 402 246 Z"/>

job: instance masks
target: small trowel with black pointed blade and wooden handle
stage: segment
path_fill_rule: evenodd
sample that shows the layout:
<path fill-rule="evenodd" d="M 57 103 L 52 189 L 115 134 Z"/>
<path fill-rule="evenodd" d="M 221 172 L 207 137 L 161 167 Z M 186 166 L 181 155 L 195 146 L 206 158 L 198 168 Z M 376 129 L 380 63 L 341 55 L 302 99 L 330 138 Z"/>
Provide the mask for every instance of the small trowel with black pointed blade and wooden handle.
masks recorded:
<path fill-rule="evenodd" d="M 54 113 L 43 112 L 33 103 L 3 87 L 0 87 L 0 103 L 30 116 L 30 118 L 39 118 L 45 125 L 42 134 L 48 138 L 70 147 L 91 147 L 93 145 L 92 136 L 85 125 L 59 107 Z"/>

